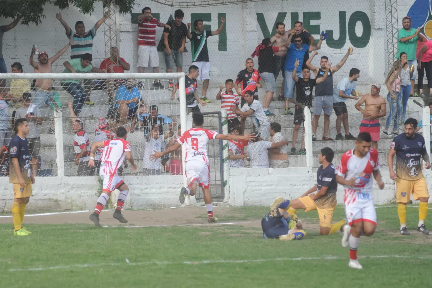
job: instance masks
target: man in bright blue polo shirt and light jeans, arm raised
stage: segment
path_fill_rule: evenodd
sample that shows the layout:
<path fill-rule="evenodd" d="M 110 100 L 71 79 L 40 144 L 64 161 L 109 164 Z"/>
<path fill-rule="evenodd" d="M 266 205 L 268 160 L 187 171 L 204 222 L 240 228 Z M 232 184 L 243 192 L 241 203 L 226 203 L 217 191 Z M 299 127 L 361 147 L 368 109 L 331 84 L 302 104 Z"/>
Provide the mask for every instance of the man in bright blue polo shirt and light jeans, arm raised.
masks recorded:
<path fill-rule="evenodd" d="M 299 67 L 302 67 L 303 69 L 303 60 L 305 59 L 305 54 L 308 53 L 309 45 L 304 44 L 302 41 L 302 35 L 294 34 L 295 30 L 292 30 L 292 34 L 289 35 L 288 39 L 286 40 L 285 46 L 288 48 L 288 52 L 286 54 L 286 61 L 285 61 L 285 75 L 291 75 L 292 71 L 295 70 L 294 63 L 296 60 L 299 60 Z M 291 38 L 294 39 L 294 43 L 291 43 Z M 312 50 L 317 50 L 318 48 L 314 46 Z M 297 77 L 303 78 L 302 71 L 300 70 L 297 72 Z M 288 74 L 287 74 L 288 73 Z M 292 78 L 288 77 L 285 79 L 285 91 L 284 91 L 284 97 L 285 97 L 285 114 L 286 115 L 292 115 L 291 109 L 289 108 L 289 101 L 288 98 L 292 98 L 292 94 L 294 92 L 294 85 L 295 82 Z"/>

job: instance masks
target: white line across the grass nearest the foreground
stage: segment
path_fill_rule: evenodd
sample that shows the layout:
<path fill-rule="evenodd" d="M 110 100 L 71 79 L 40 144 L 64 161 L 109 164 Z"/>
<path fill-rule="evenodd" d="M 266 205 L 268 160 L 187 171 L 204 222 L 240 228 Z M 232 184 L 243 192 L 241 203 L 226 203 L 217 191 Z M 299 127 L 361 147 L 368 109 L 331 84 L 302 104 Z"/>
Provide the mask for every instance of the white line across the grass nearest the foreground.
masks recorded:
<path fill-rule="evenodd" d="M 360 259 L 382 259 L 382 258 L 405 258 L 405 259 L 426 259 L 432 260 L 432 256 L 401 256 L 401 255 L 377 255 L 377 256 L 359 256 Z M 323 257 L 297 257 L 297 258 L 269 258 L 269 259 L 244 259 L 244 260 L 197 260 L 197 261 L 146 261 L 146 262 L 130 262 L 128 259 L 124 263 L 96 263 L 96 264 L 73 264 L 51 267 L 30 267 L 30 268 L 12 268 L 9 272 L 22 271 L 45 271 L 56 269 L 73 269 L 99 266 L 119 266 L 119 265 L 198 265 L 198 264 L 218 264 L 218 263 L 259 263 L 268 261 L 303 261 L 303 260 L 348 260 L 347 257 L 340 256 L 323 256 Z"/>

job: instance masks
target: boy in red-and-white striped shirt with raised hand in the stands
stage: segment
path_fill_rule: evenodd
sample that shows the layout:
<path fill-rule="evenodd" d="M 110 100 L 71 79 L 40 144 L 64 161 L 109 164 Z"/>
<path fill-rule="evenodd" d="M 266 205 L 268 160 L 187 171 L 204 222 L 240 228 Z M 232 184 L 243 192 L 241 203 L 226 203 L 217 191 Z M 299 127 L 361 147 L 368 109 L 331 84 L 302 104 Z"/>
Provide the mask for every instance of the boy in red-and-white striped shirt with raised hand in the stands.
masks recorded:
<path fill-rule="evenodd" d="M 238 120 L 237 114 L 235 114 L 235 108 L 240 104 L 240 100 L 238 99 L 238 94 L 232 91 L 234 87 L 234 81 L 232 79 L 227 79 L 225 81 L 225 92 L 222 92 L 223 86 L 220 86 L 219 93 L 216 95 L 216 100 L 222 100 L 220 103 L 221 110 L 228 110 L 227 118 L 228 118 L 228 130 L 233 127 L 240 126 L 240 121 Z"/>

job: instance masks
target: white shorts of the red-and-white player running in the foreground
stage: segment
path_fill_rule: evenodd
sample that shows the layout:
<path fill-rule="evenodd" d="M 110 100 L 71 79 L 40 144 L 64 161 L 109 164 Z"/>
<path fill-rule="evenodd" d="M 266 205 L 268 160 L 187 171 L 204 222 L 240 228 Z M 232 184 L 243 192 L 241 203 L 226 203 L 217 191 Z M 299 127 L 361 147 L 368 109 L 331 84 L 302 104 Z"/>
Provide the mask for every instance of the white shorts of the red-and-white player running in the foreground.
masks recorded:
<path fill-rule="evenodd" d="M 347 190 L 345 190 L 346 199 Z M 369 193 L 354 192 L 356 197 L 349 202 L 344 201 L 345 214 L 350 226 L 359 222 L 369 222 L 377 225 L 377 214 L 375 212 L 374 199 Z"/>

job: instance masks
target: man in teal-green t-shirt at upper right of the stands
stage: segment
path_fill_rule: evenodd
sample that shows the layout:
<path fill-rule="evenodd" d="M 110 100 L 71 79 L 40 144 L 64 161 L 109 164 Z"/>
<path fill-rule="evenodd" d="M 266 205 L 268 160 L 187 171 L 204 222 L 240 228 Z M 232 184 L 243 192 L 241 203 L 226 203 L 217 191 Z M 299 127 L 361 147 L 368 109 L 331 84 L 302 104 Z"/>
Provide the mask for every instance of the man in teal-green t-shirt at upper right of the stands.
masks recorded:
<path fill-rule="evenodd" d="M 399 34 L 397 36 L 397 50 L 399 51 L 397 57 L 399 57 L 400 53 L 405 52 L 407 53 L 408 63 L 410 64 L 410 67 L 414 65 L 414 73 L 413 77 L 411 77 L 410 97 L 419 97 L 417 92 L 414 93 L 414 80 L 417 77 L 417 41 L 423 41 L 423 36 L 419 34 L 421 27 L 417 29 L 411 29 L 411 18 L 408 16 L 403 17 L 402 26 L 403 28 L 399 29 Z"/>

